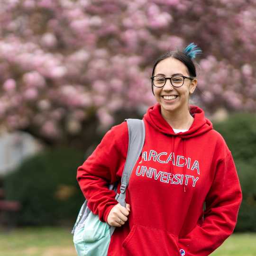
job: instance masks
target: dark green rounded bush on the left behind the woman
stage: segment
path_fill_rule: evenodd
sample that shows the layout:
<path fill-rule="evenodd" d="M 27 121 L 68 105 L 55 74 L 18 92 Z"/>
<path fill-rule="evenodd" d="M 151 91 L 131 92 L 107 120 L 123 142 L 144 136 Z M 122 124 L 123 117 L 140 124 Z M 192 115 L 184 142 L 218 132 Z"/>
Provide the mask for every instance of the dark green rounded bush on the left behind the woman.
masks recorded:
<path fill-rule="evenodd" d="M 22 205 L 17 224 L 72 224 L 84 201 L 76 181 L 77 167 L 83 161 L 83 153 L 73 149 L 48 149 L 5 176 L 6 198 Z"/>

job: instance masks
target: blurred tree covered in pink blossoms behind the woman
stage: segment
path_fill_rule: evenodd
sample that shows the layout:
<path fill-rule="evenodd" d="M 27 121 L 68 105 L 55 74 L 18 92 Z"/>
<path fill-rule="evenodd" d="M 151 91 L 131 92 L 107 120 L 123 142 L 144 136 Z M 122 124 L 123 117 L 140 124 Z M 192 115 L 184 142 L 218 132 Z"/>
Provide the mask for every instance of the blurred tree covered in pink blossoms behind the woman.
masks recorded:
<path fill-rule="evenodd" d="M 195 42 L 208 114 L 256 110 L 254 0 L 2 0 L 0 120 L 51 144 L 153 105 L 155 59 Z M 89 135 L 91 136 L 91 135 Z M 80 140 L 81 141 L 81 140 Z"/>

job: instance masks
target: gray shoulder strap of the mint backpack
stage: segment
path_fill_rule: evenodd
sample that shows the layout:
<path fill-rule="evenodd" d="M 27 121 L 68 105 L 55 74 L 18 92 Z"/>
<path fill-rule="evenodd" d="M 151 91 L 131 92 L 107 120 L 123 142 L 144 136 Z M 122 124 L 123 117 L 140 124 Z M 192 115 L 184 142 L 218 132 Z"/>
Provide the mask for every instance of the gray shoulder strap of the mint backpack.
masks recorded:
<path fill-rule="evenodd" d="M 125 207 L 125 192 L 129 183 L 132 170 L 139 158 L 145 141 L 145 126 L 141 119 L 125 119 L 128 125 L 128 152 L 125 161 L 124 171 L 121 179 L 120 194 L 117 193 L 115 199 Z M 114 226 L 110 226 L 110 236 L 115 230 Z"/>

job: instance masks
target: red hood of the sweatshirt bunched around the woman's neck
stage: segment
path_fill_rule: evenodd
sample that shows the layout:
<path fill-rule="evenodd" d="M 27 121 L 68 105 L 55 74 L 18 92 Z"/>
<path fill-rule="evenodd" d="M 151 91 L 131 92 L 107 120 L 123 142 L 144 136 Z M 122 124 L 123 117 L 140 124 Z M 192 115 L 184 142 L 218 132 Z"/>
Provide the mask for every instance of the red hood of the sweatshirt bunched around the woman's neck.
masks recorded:
<path fill-rule="evenodd" d="M 156 103 L 149 107 L 144 115 L 144 119 L 155 129 L 162 133 L 178 136 L 184 139 L 199 136 L 212 129 L 212 123 L 204 117 L 204 111 L 198 106 L 190 105 L 190 113 L 194 121 L 188 131 L 182 133 L 174 133 L 173 128 L 167 123 L 161 114 L 161 105 Z"/>

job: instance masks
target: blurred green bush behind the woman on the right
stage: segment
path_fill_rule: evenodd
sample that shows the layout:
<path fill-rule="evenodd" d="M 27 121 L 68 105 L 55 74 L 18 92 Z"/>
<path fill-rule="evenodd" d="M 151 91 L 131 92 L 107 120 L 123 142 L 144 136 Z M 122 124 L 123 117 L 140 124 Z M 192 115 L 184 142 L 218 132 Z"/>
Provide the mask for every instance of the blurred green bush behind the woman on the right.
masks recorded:
<path fill-rule="evenodd" d="M 235 231 L 256 231 L 256 115 L 232 114 L 214 128 L 232 152 L 241 183 L 243 201 Z"/>

